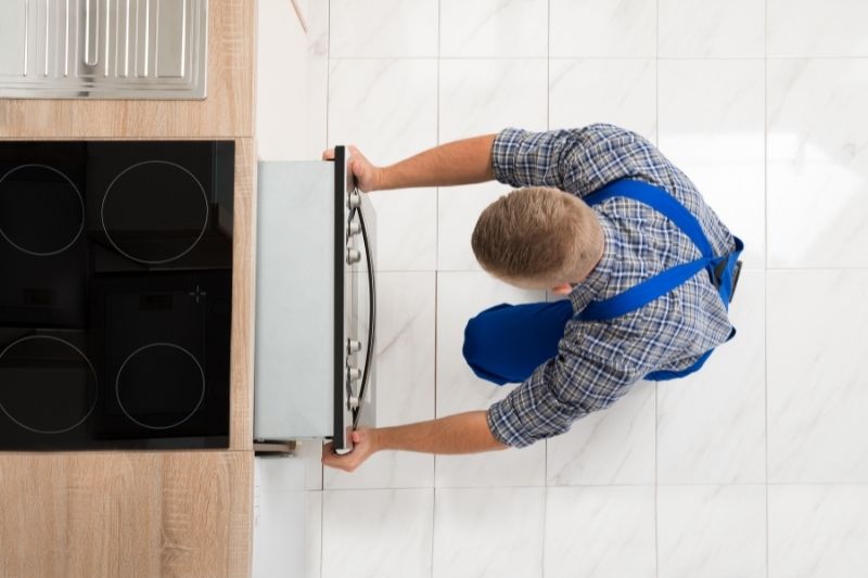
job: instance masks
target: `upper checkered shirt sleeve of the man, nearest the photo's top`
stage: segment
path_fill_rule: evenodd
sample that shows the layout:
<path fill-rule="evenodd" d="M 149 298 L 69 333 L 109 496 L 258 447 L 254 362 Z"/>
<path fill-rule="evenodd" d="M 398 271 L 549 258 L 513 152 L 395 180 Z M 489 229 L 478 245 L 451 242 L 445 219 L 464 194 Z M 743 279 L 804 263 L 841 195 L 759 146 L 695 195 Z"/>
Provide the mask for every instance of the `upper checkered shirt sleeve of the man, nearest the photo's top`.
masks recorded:
<path fill-rule="evenodd" d="M 495 178 L 512 187 L 556 187 L 585 196 L 623 178 L 671 188 L 677 169 L 636 132 L 613 125 L 529 132 L 502 130 L 492 147 Z"/>

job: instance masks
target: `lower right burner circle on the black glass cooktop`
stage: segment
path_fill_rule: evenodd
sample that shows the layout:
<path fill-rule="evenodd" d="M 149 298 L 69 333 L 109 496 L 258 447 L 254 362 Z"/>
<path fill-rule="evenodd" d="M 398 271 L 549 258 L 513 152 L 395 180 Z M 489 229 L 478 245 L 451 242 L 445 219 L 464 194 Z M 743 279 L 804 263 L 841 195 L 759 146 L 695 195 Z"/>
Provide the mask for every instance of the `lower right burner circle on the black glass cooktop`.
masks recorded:
<path fill-rule="evenodd" d="M 205 398 L 205 371 L 180 345 L 152 343 L 136 349 L 120 364 L 115 396 L 132 422 L 149 429 L 169 429 L 199 411 Z M 179 414 L 183 414 L 180 420 Z"/>

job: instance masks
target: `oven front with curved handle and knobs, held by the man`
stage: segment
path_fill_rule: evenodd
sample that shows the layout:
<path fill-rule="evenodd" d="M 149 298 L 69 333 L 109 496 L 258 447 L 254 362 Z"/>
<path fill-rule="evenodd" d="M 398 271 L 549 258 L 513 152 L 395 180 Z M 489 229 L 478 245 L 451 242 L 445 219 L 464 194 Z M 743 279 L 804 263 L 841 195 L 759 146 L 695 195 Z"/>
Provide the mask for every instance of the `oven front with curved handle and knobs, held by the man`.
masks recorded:
<path fill-rule="evenodd" d="M 334 449 L 353 449 L 352 432 L 375 424 L 375 216 L 356 188 L 345 146 L 335 147 Z M 339 272 L 340 270 L 340 272 Z M 340 296 L 343 297 L 341 300 Z"/>

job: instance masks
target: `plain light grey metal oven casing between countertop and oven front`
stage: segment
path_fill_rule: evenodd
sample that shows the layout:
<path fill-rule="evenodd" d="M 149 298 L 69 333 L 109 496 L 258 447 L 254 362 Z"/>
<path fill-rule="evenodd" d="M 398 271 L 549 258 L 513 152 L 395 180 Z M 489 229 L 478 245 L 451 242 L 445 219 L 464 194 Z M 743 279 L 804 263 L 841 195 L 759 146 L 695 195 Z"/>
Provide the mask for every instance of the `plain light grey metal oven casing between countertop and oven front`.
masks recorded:
<path fill-rule="evenodd" d="M 334 431 L 335 235 L 331 163 L 260 163 L 254 438 Z"/>

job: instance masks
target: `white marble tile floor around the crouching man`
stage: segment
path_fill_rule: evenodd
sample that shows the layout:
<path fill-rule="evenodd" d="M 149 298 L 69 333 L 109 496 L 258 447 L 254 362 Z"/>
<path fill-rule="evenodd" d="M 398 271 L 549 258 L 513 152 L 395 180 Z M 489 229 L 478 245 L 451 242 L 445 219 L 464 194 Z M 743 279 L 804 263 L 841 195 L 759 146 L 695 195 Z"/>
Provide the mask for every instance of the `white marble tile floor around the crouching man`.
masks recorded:
<path fill-rule="evenodd" d="M 868 576 L 868 3 L 310 5 L 322 143 L 385 164 L 505 126 L 615 123 L 658 142 L 748 249 L 739 335 L 698 375 L 638 384 L 521 451 L 322 476 L 309 450 L 308 577 Z M 384 423 L 505 395 L 460 346 L 477 310 L 542 298 L 470 252 L 506 191 L 374 195 Z"/>

